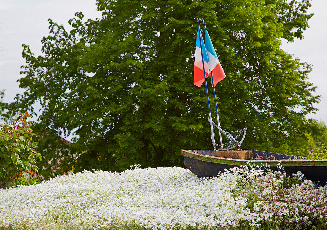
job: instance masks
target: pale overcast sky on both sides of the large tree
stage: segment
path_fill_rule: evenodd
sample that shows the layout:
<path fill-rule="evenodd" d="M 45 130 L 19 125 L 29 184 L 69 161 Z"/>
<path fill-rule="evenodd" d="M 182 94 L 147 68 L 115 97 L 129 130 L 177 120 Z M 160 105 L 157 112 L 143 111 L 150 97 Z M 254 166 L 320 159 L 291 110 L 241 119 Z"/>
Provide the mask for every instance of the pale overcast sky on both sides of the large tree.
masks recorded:
<path fill-rule="evenodd" d="M 309 20 L 304 38 L 293 43 L 282 42 L 282 48 L 301 61 L 313 65 L 309 81 L 318 85 L 316 93 L 322 96 L 317 105 L 319 111 L 308 118 L 322 120 L 327 124 L 327 0 L 312 0 L 309 12 L 315 15 Z M 22 44 L 31 51 L 41 54 L 41 39 L 49 34 L 48 19 L 63 24 L 70 30 L 68 20 L 75 12 L 82 11 L 84 19 L 95 19 L 101 14 L 96 11 L 95 0 L 1 0 L 0 4 L 0 90 L 6 89 L 5 102 L 12 102 L 19 88 L 17 79 L 22 58 Z M 227 73 L 228 75 L 228 73 Z"/>

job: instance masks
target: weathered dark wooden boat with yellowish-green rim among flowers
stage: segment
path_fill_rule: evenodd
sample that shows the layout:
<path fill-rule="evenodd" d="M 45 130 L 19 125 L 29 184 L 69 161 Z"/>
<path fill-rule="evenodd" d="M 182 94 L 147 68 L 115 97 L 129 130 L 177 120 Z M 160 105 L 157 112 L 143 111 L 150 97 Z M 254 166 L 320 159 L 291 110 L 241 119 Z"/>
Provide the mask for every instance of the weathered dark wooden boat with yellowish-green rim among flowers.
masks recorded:
<path fill-rule="evenodd" d="M 292 176 L 298 171 L 307 180 L 312 180 L 319 186 L 325 186 L 327 182 L 327 159 L 307 159 L 305 157 L 292 156 L 280 153 L 271 153 L 259 150 L 185 150 L 181 149 L 184 156 L 184 165 L 192 173 L 201 177 L 215 177 L 219 172 L 242 165 L 262 166 L 267 171 L 280 170 Z"/>

